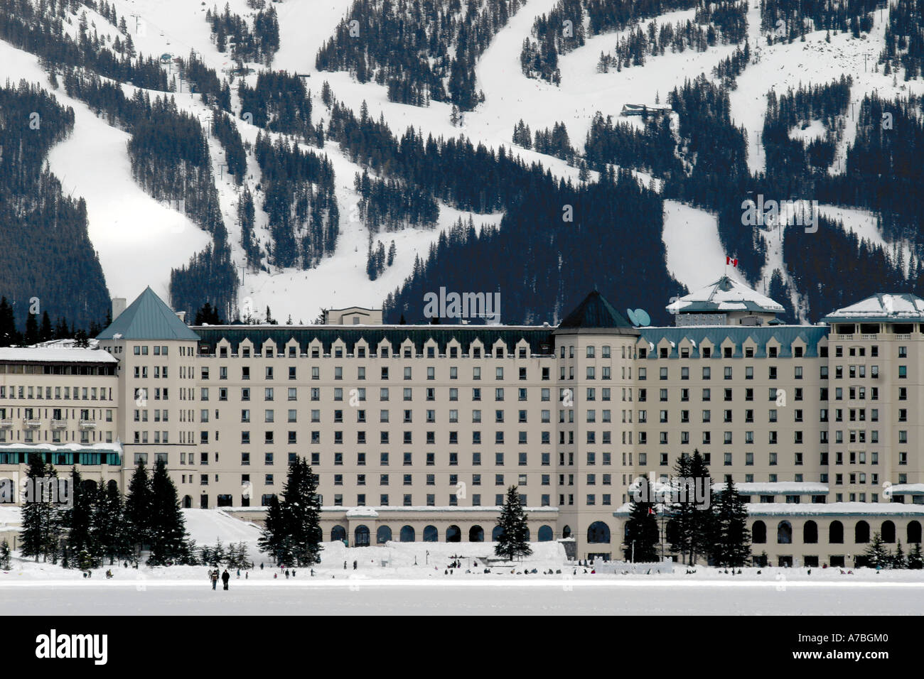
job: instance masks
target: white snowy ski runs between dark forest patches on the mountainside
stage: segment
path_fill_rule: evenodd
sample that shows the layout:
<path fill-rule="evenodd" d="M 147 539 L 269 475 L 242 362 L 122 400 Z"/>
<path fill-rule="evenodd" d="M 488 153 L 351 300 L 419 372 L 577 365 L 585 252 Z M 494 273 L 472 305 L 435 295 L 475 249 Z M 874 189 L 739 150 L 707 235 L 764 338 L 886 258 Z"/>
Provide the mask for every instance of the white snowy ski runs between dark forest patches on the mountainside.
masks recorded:
<path fill-rule="evenodd" d="M 234 67 L 230 56 L 216 48 L 205 18 L 213 3 L 112 0 L 110 4 L 120 17 L 126 18 L 128 33 L 139 53 L 184 58 L 195 53 L 207 67 L 215 69 L 219 78 L 225 78 Z M 255 10 L 248 0 L 228 0 L 226 4 L 230 12 L 252 21 Z M 452 107 L 448 103 L 432 102 L 427 107 L 417 107 L 390 102 L 386 88 L 374 81 L 360 83 L 346 72 L 321 72 L 315 68 L 315 55 L 322 43 L 334 33 L 338 23 L 348 18 L 352 0 L 286 0 L 274 3 L 280 41 L 271 67 L 307 76 L 305 82 L 311 91 L 313 124 L 320 122 L 326 127 L 329 120 L 328 111 L 320 98 L 322 83 L 327 81 L 338 101 L 354 111 L 359 111 L 360 106 L 366 103 L 369 115 L 374 119 L 381 117 L 396 135 L 403 133 L 407 127 L 419 129 L 424 138 L 427 135 L 451 138 L 464 134 L 473 142 L 481 142 L 489 148 L 497 149 L 503 145 L 524 161 L 540 163 L 554 176 L 577 182 L 577 167 L 547 154 L 512 146 L 511 134 L 519 120 L 526 121 L 532 129 L 553 127 L 557 122 L 564 122 L 571 144 L 581 152 L 590 130 L 590 121 L 598 111 L 604 116 L 616 117 L 627 103 L 663 103 L 667 93 L 686 80 L 694 79 L 700 73 L 711 78 L 712 68 L 736 48 L 735 45 L 719 43 L 704 52 L 668 51 L 664 55 L 647 57 L 642 67 L 600 73 L 596 67 L 599 56 L 609 53 L 617 39 L 625 37 L 627 31 L 605 33 L 589 37 L 586 44 L 560 57 L 561 84 L 555 86 L 545 80 L 527 78 L 520 68 L 524 39 L 529 36 L 536 18 L 548 14 L 555 4 L 556 0 L 529 0 L 493 36 L 490 46 L 475 66 L 477 87 L 484 93 L 484 102 L 474 111 L 466 112 L 458 126 L 451 122 Z M 218 5 L 220 10 L 224 10 L 225 3 Z M 91 7 L 81 7 L 79 11 L 86 12 L 92 29 L 97 30 L 103 40 L 118 34 L 116 26 Z M 883 74 L 876 66 L 889 11 L 888 7 L 877 11 L 869 34 L 860 39 L 853 38 L 849 32 L 833 33 L 828 42 L 825 31 L 815 31 L 808 33 L 805 42 L 768 45 L 760 30 L 760 4 L 750 3 L 748 42 L 751 60 L 737 77 L 736 89 L 730 94 L 731 116 L 736 125 L 747 129 L 749 170 L 760 172 L 764 169 L 760 130 L 768 91 L 774 90 L 779 94 L 800 85 L 821 85 L 842 74 L 853 78 L 851 107 L 845 116 L 843 139 L 829 169 L 833 174 L 843 169 L 847 144 L 856 138 L 854 114 L 866 94 L 875 92 L 881 97 L 891 98 L 899 94 L 924 92 L 921 79 L 894 80 L 893 76 Z M 659 25 L 674 23 L 692 19 L 693 15 L 693 10 L 671 12 L 657 18 L 657 22 Z M 72 15 L 72 21 L 66 24 L 68 34 L 76 34 L 78 17 L 79 13 Z M 650 19 L 645 19 L 639 25 L 644 30 L 649 23 Z M 248 66 L 255 70 L 263 68 L 257 64 Z M 173 63 L 164 64 L 164 68 L 171 76 L 176 72 Z M 50 88 L 47 74 L 39 67 L 37 57 L 2 41 L 0 78 L 13 81 L 25 78 Z M 253 86 L 257 74 L 246 75 L 243 79 Z M 181 89 L 171 93 L 177 106 L 197 115 L 205 123 L 211 116 L 209 107 L 202 103 L 200 96 L 189 93 L 188 84 L 185 89 L 181 84 Z M 260 130 L 239 118 L 243 112 L 236 86 L 233 85 L 231 90 L 232 107 L 237 114 L 235 124 L 244 141 L 252 144 Z M 130 97 L 135 88 L 126 83 L 123 91 Z M 147 93 L 152 99 L 163 94 L 155 91 Z M 49 165 L 67 190 L 87 201 L 90 236 L 99 252 L 110 292 L 114 296 L 134 297 L 145 285 L 152 285 L 159 294 L 167 297 L 170 270 L 183 265 L 191 255 L 201 251 L 210 236 L 176 210 L 153 200 L 132 180 L 126 152 L 127 133 L 110 127 L 102 118 L 93 115 L 88 106 L 67 97 L 63 91 L 55 91 L 55 96 L 74 108 L 77 120 L 74 134 L 53 150 Z M 633 119 L 634 123 L 636 121 Z M 806 130 L 797 130 L 794 134 L 804 138 L 821 135 L 821 123 L 807 122 L 810 125 Z M 271 133 L 271 137 L 279 135 Z M 302 148 L 307 150 L 309 147 Z M 481 224 L 500 224 L 503 217 L 500 212 L 460 212 L 441 203 L 436 228 L 407 228 L 373 237 L 373 245 L 382 241 L 386 249 L 394 239 L 397 254 L 394 264 L 371 281 L 366 273 L 369 231 L 355 216 L 359 196 L 353 188 L 353 178 L 362 172 L 362 168 L 354 164 L 337 143 L 327 142 L 322 150 L 313 149 L 313 152 L 326 156 L 334 166 L 335 193 L 340 212 L 340 230 L 334 255 L 307 271 L 279 270 L 270 266 L 264 257 L 263 270 L 248 271 L 243 266 L 245 258 L 237 223 L 241 189 L 224 171 L 225 150 L 217 139 L 209 138 L 209 152 L 232 259 L 241 279 L 238 300 L 255 309 L 258 317 L 267 306 L 278 320 L 285 321 L 291 316 L 297 322 L 313 320 L 321 308 L 352 304 L 379 306 L 387 293 L 403 283 L 412 270 L 415 258 L 424 259 L 440 232 L 455 224 L 457 219 L 461 217 L 467 221 L 470 217 L 480 227 Z M 650 175 L 636 171 L 636 176 L 646 186 L 649 185 Z M 595 178 L 596 173 L 590 173 L 590 180 Z M 245 182 L 255 196 L 255 233 L 265 253 L 272 243 L 267 228 L 268 218 L 261 210 L 261 172 L 252 154 L 248 157 Z M 657 188 L 659 182 L 655 181 L 654 185 Z M 846 228 L 856 230 L 873 243 L 891 247 L 892 244 L 879 233 L 871 213 L 849 211 L 843 207 L 822 210 L 822 213 L 829 212 L 831 216 L 843 219 Z M 769 282 L 776 269 L 781 270 L 785 277 L 786 265 L 782 236 L 768 230 L 765 241 L 767 259 L 760 275 Z M 667 250 L 668 270 L 690 289 L 714 280 L 716 274 L 723 270 L 726 253 L 723 252 L 716 219 L 709 212 L 676 201 L 665 201 L 663 243 Z M 734 270 L 731 273 L 739 275 Z M 794 303 L 797 307 L 797 299 Z"/>

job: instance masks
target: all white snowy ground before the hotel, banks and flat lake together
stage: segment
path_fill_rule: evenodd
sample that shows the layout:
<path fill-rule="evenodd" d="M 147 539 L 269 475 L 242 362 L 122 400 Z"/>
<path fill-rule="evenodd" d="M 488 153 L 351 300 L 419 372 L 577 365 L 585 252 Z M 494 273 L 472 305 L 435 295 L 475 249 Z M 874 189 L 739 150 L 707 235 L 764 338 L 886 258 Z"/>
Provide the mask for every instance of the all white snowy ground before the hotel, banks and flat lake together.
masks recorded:
<path fill-rule="evenodd" d="M 0 610 L 43 614 L 906 614 L 924 593 L 924 571 L 869 568 L 755 568 L 741 573 L 683 564 L 567 561 L 559 542 L 505 563 L 492 542 L 387 542 L 347 548 L 325 542 L 322 563 L 286 577 L 257 550 L 259 528 L 222 511 L 183 510 L 199 546 L 245 542 L 255 567 L 230 569 L 230 588 L 213 591 L 207 566 L 103 565 L 90 577 L 14 552 L 0 571 Z M 18 522 L 4 508 L 0 521 Z M 450 568 L 453 561 L 460 568 Z M 354 565 L 355 564 L 355 565 Z M 261 567 L 262 566 L 262 567 Z M 106 570 L 113 577 L 105 577 Z M 535 570 L 535 573 L 533 572 Z M 663 572 L 659 573 L 661 570 Z"/>

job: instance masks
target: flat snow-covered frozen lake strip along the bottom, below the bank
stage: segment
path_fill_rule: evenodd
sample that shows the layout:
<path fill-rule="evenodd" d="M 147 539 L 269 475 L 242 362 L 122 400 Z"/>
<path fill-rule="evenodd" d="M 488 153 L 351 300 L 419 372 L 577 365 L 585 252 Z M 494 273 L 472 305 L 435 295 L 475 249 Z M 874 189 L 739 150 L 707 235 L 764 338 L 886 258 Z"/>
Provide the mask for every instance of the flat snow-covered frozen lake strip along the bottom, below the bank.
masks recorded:
<path fill-rule="evenodd" d="M 22 582 L 0 586 L 0 611 L 68 615 L 902 615 L 919 611 L 924 583 L 529 582 L 341 580 Z"/>

